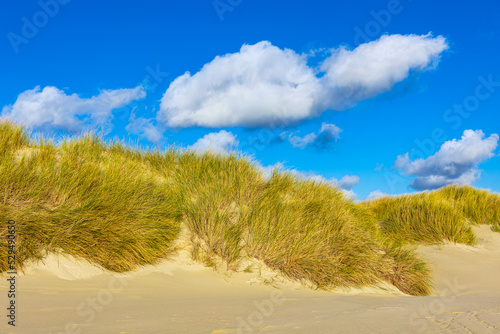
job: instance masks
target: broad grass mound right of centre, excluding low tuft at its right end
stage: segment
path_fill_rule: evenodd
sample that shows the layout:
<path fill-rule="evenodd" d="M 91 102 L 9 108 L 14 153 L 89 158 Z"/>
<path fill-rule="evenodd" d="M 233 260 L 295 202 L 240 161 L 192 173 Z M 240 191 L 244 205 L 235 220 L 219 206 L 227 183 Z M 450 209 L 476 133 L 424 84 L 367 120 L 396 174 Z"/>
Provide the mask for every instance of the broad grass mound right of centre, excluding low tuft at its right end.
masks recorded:
<path fill-rule="evenodd" d="M 338 189 L 274 173 L 248 217 L 248 254 L 318 286 L 366 285 L 380 277 L 378 244 Z"/>

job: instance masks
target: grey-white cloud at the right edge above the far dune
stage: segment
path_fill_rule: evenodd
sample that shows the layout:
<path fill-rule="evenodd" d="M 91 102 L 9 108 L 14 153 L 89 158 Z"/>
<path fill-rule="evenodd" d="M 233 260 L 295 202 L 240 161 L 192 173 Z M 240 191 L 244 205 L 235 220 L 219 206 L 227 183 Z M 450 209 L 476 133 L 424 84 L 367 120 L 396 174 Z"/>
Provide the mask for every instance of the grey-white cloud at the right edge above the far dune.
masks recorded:
<path fill-rule="evenodd" d="M 471 184 L 480 177 L 479 163 L 495 155 L 498 139 L 497 134 L 486 137 L 481 130 L 465 130 L 461 139 L 445 142 L 426 159 L 412 161 L 408 153 L 398 156 L 394 167 L 415 176 L 411 186 L 417 190 Z"/>

